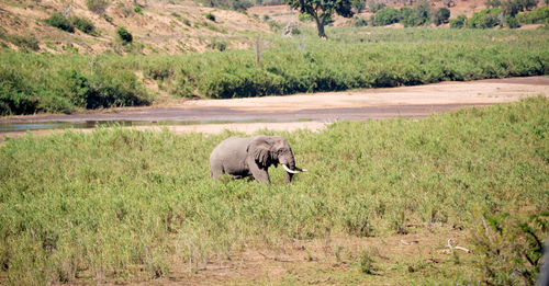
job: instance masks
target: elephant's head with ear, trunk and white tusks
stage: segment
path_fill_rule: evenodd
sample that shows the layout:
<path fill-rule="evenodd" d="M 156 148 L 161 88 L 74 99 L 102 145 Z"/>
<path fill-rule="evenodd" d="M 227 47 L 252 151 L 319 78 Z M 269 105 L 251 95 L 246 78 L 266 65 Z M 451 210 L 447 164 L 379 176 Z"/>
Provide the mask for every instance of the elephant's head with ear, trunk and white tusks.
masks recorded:
<path fill-rule="evenodd" d="M 285 170 L 287 183 L 292 181 L 293 174 L 306 171 L 295 167 L 292 148 L 283 137 L 258 136 L 250 141 L 247 151 L 260 169 L 267 170 L 271 164 L 281 164 Z"/>

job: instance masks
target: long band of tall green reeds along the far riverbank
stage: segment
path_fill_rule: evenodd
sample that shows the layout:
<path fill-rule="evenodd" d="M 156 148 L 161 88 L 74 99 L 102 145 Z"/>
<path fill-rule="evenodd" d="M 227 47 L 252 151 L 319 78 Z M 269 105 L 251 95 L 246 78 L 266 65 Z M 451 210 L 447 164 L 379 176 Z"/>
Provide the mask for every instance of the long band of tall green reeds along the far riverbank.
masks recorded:
<path fill-rule="evenodd" d="M 97 58 L 4 52 L 0 114 L 150 103 L 134 73 L 176 96 L 212 99 L 549 73 L 544 30 L 330 28 L 328 41 L 303 31 L 268 36 L 260 62 L 253 49 Z"/>

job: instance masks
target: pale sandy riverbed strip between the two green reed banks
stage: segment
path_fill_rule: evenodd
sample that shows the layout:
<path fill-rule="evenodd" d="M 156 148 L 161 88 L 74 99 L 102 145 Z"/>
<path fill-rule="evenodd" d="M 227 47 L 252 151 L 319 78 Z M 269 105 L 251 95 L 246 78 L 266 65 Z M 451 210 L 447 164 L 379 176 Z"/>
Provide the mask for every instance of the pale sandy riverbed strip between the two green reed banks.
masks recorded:
<path fill-rule="evenodd" d="M 149 124 L 146 126 L 136 128 L 168 128 L 175 133 L 205 134 L 221 133 L 224 129 L 248 134 L 265 128 L 318 130 L 335 121 L 424 117 L 461 107 L 514 102 L 536 95 L 549 96 L 549 77 L 441 82 L 288 96 L 197 100 L 72 115 L 10 116 L 0 118 L 0 127 L 59 122 L 147 122 Z M 150 123 L 163 124 L 150 126 Z M 7 134 L 18 136 L 20 133 Z"/>

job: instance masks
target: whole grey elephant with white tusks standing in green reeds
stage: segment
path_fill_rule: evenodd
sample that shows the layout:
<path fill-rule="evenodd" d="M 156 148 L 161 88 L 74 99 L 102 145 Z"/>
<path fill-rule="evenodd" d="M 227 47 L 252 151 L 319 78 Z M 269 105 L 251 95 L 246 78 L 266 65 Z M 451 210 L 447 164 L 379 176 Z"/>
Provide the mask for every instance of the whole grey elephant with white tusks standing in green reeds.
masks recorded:
<path fill-rule="evenodd" d="M 270 183 L 270 165 L 281 164 L 285 170 L 285 182 L 294 174 L 306 171 L 295 167 L 292 149 L 280 136 L 229 137 L 210 155 L 211 175 L 215 180 L 223 173 L 233 178 L 254 176 L 258 182 Z"/>

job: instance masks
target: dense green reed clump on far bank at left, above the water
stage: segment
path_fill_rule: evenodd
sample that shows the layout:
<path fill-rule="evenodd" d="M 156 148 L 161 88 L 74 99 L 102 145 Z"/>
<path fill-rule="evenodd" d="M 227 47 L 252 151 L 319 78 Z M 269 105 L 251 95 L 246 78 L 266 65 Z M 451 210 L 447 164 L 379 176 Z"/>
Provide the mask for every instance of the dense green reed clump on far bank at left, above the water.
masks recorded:
<path fill-rule="evenodd" d="M 153 100 L 124 67 L 90 62 L 79 55 L 5 52 L 0 62 L 1 115 L 71 113 L 77 108 L 143 105 Z M 67 69 L 72 65 L 81 69 Z M 29 68 L 19 68 L 22 66 Z"/>

